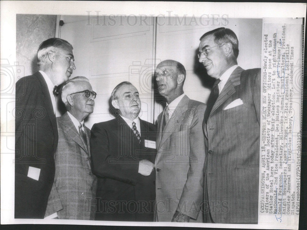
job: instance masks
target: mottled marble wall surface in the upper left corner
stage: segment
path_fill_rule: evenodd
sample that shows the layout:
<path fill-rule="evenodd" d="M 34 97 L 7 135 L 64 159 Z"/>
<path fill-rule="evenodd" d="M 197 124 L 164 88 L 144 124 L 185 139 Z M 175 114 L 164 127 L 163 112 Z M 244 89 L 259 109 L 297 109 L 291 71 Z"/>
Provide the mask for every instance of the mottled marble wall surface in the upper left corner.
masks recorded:
<path fill-rule="evenodd" d="M 24 76 L 38 71 L 36 52 L 44 40 L 55 37 L 56 15 L 16 15 L 16 60 L 24 66 Z"/>

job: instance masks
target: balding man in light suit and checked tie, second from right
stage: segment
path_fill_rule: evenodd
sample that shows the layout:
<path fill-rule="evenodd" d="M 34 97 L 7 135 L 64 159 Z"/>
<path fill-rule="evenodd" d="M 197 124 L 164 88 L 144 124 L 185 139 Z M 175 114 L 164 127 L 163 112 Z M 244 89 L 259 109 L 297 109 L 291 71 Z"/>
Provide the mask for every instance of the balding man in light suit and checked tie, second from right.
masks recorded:
<path fill-rule="evenodd" d="M 205 104 L 183 92 L 185 67 L 174 60 L 155 71 L 166 107 L 158 116 L 156 221 L 202 222 Z"/>

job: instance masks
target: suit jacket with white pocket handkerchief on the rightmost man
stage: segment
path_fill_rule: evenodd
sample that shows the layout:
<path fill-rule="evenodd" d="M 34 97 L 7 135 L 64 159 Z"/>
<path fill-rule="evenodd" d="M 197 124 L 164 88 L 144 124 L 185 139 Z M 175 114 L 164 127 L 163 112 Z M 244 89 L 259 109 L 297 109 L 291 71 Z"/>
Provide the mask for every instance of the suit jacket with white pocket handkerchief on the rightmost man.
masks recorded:
<path fill-rule="evenodd" d="M 204 184 L 215 223 L 258 221 L 260 100 L 260 69 L 237 67 L 203 123 Z"/>

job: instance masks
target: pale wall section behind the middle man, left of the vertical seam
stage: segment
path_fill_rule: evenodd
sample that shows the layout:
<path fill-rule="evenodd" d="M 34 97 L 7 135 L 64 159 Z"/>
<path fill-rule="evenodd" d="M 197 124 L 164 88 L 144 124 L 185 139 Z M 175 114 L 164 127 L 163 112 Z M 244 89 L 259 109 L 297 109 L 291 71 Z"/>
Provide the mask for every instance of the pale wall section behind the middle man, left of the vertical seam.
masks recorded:
<path fill-rule="evenodd" d="M 70 78 L 87 77 L 97 93 L 94 112 L 85 120 L 87 127 L 114 118 L 111 92 L 122 81 L 130 81 L 140 93 L 139 117 L 153 122 L 153 19 L 128 21 L 122 16 L 115 21 L 107 17 L 88 21 L 87 16 L 60 16 L 64 22 L 60 38 L 74 47 L 76 70 Z"/>

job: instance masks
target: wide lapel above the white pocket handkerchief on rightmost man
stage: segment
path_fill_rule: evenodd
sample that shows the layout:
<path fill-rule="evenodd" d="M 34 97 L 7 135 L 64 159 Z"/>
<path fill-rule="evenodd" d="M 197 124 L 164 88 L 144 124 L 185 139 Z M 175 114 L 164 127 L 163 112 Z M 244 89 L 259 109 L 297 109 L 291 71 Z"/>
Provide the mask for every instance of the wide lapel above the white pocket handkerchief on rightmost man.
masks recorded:
<path fill-rule="evenodd" d="M 237 67 L 230 75 L 228 81 L 226 82 L 222 92 L 217 98 L 215 104 L 212 107 L 209 117 L 216 111 L 218 107 L 220 107 L 232 94 L 235 93 L 235 86 L 240 85 L 240 75 L 243 69 L 241 67 Z"/>

